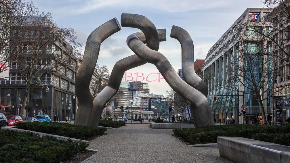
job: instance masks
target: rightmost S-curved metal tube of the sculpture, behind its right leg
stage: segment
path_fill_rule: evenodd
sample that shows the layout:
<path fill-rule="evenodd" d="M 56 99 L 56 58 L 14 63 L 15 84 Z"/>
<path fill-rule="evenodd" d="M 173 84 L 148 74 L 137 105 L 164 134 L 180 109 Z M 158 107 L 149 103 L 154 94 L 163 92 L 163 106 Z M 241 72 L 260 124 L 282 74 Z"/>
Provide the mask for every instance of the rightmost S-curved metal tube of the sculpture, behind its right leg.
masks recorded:
<path fill-rule="evenodd" d="M 182 75 L 185 82 L 207 97 L 207 86 L 194 70 L 194 47 L 191 36 L 183 28 L 172 26 L 170 37 L 180 42 Z"/>

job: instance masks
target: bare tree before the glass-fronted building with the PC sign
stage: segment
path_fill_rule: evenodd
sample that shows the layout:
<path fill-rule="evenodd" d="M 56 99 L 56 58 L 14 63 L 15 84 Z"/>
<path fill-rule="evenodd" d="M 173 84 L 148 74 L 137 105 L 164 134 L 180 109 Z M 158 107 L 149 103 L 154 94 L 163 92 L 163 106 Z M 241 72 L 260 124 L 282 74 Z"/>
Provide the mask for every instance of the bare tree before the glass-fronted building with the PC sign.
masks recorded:
<path fill-rule="evenodd" d="M 256 99 L 260 104 L 262 119 L 265 123 L 266 113 L 263 101 L 273 93 L 275 80 L 285 76 L 285 71 L 275 67 L 273 41 L 270 24 L 265 21 L 245 22 L 235 28 L 237 52 L 230 52 L 226 57 L 229 59 L 228 76 L 216 81 L 220 87 L 242 92 L 251 99 Z M 253 104 L 253 102 L 252 102 Z M 256 104 L 257 105 L 257 104 Z"/>

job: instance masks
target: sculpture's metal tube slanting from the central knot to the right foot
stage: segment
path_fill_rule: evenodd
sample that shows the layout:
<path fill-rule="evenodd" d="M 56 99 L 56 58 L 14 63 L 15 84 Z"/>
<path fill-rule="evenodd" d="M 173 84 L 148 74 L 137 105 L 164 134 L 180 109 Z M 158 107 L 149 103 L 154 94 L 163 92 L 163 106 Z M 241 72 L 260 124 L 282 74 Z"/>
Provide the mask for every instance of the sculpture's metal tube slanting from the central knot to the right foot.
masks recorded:
<path fill-rule="evenodd" d="M 175 72 L 167 58 L 160 52 L 151 50 L 135 35 L 127 38 L 129 48 L 144 61 L 154 64 L 162 76 L 176 93 L 194 104 L 197 112 L 194 117 L 195 127 L 215 125 L 207 98 L 198 90 L 184 82 Z M 167 76 L 165 76 L 165 73 Z"/>

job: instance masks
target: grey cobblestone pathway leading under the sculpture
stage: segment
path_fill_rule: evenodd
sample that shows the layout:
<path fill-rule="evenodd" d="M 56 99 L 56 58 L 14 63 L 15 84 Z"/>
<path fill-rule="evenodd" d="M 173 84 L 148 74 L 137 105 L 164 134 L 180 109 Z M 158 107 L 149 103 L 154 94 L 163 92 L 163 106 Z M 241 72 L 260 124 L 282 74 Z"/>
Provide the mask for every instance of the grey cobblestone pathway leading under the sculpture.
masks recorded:
<path fill-rule="evenodd" d="M 172 129 L 152 129 L 149 124 L 126 124 L 90 142 L 99 150 L 82 163 L 230 163 L 220 157 L 218 148 L 189 147 L 177 140 Z"/>

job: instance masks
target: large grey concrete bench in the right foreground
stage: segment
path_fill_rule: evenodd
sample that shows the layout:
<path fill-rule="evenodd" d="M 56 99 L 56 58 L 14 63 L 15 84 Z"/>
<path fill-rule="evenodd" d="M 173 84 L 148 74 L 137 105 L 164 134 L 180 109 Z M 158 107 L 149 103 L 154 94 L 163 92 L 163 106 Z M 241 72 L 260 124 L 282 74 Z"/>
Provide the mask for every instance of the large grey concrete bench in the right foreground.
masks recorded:
<path fill-rule="evenodd" d="M 290 163 L 290 146 L 221 136 L 217 143 L 220 155 L 234 163 Z"/>

